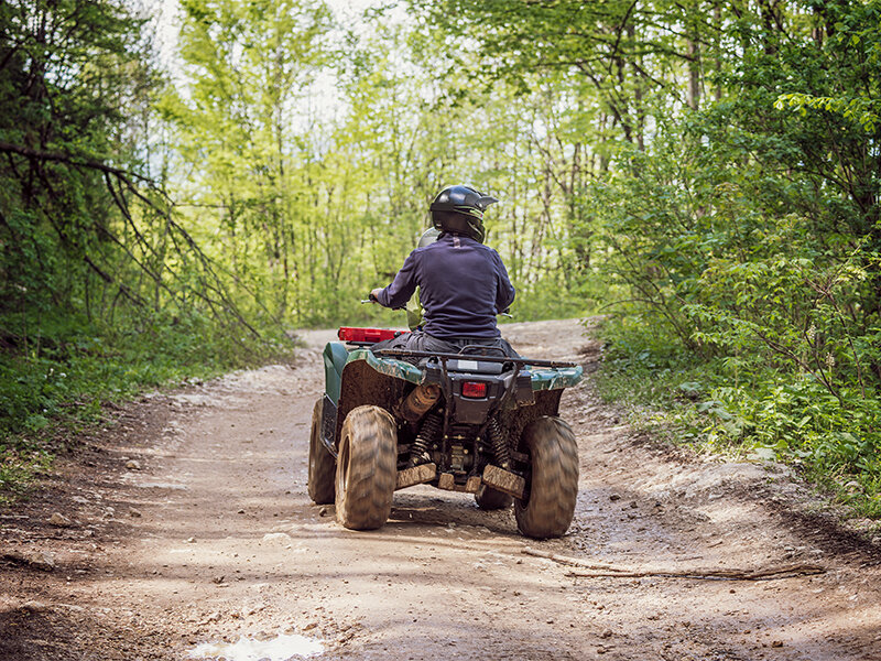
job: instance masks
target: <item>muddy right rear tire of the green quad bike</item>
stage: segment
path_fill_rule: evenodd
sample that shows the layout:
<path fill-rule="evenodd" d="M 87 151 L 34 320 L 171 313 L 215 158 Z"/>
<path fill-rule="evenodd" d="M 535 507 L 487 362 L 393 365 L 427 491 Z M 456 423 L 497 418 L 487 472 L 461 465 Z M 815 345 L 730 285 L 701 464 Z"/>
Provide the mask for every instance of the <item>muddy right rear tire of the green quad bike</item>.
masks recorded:
<path fill-rule="evenodd" d="M 520 532 L 535 539 L 563 535 L 572 523 L 578 496 L 578 445 L 559 418 L 540 418 L 523 430 L 521 452 L 530 455 L 526 496 L 514 501 Z"/>

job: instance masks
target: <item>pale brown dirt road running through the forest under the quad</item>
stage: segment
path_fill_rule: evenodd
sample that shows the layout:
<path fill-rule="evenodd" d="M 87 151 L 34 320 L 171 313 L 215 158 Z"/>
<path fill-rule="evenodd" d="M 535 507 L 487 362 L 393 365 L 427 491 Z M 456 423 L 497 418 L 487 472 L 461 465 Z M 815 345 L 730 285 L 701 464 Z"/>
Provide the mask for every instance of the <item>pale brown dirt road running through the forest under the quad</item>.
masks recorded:
<path fill-rule="evenodd" d="M 505 335 L 596 359 L 575 322 Z M 581 470 L 564 539 L 429 487 L 398 492 L 379 531 L 342 529 L 306 496 L 329 334 L 305 337 L 294 367 L 120 411 L 44 495 L 0 510 L 0 660 L 881 659 L 875 545 L 779 469 L 639 437 L 589 379 L 563 398 Z M 573 575 L 606 565 L 635 575 Z M 784 566 L 824 573 L 670 575 Z"/>

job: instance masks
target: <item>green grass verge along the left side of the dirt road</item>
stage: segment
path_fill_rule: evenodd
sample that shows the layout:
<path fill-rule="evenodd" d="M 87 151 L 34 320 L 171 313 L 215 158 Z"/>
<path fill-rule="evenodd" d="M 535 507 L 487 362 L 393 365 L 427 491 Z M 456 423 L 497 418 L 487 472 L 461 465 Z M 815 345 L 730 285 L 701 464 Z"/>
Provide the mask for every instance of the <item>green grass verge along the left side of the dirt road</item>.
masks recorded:
<path fill-rule="evenodd" d="M 32 330 L 26 345 L 0 349 L 0 505 L 24 496 L 72 438 L 106 419 L 107 404 L 284 358 L 294 348 L 286 338 L 233 339 L 199 319 L 155 319 L 124 333 L 76 318 L 55 322 Z"/>

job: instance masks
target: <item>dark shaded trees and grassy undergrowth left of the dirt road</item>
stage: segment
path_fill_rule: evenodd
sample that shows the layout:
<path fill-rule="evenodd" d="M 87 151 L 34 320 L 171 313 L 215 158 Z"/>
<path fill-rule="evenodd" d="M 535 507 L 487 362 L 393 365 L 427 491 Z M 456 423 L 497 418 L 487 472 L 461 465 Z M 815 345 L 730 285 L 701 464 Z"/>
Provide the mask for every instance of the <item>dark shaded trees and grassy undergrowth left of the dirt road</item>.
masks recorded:
<path fill-rule="evenodd" d="M 161 80 L 143 29 L 116 0 L 0 10 L 6 494 L 102 401 L 275 350 L 278 327 L 242 316 L 150 176 Z"/>

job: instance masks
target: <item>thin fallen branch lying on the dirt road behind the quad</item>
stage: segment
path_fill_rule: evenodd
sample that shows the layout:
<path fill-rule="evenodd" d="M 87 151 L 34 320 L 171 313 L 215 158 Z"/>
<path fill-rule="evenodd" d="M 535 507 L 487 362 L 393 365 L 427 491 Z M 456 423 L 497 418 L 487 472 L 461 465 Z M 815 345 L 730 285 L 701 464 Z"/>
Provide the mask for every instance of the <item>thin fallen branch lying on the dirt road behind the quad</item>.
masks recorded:
<path fill-rule="evenodd" d="M 640 570 L 633 567 L 617 567 L 614 565 L 592 564 L 579 560 L 577 557 L 568 557 L 566 555 L 558 555 L 556 553 L 548 553 L 546 551 L 536 551 L 529 546 L 523 549 L 526 555 L 535 557 L 544 557 L 553 560 L 565 565 L 576 567 L 585 567 L 592 570 L 589 572 L 567 572 L 566 576 L 579 578 L 597 578 L 597 577 L 612 577 L 612 578 L 645 578 L 649 576 L 657 576 L 662 578 L 700 578 L 707 581 L 774 581 L 779 578 L 792 578 L 794 576 L 814 576 L 816 574 L 825 574 L 826 568 L 819 565 L 808 564 L 793 564 L 783 565 L 779 567 L 769 567 L 764 570 L 714 570 L 714 568 L 695 568 L 695 570 Z"/>

